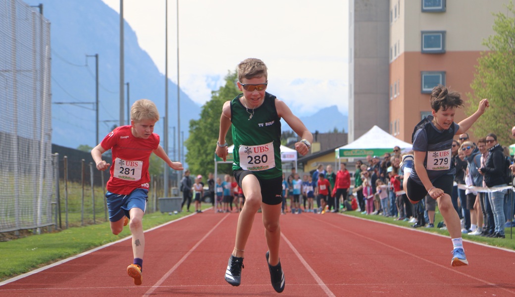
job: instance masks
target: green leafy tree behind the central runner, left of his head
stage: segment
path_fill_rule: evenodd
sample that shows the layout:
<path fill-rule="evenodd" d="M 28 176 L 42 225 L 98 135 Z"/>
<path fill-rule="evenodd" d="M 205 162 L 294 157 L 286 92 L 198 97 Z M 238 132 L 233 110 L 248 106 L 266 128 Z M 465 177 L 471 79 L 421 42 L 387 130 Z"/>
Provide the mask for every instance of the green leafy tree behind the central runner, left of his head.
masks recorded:
<path fill-rule="evenodd" d="M 224 102 L 232 100 L 239 94 L 236 88 L 236 72 L 229 72 L 225 80 L 226 84 L 221 86 L 218 91 L 213 91 L 211 100 L 202 106 L 200 118 L 190 121 L 190 136 L 184 141 L 184 145 L 187 148 L 186 163 L 193 174 L 202 174 L 207 177 L 209 172 L 215 170 L 214 157 L 222 107 Z M 228 145 L 232 144 L 230 129 L 226 141 Z M 231 164 L 218 166 L 218 172 L 230 173 L 231 170 Z"/>

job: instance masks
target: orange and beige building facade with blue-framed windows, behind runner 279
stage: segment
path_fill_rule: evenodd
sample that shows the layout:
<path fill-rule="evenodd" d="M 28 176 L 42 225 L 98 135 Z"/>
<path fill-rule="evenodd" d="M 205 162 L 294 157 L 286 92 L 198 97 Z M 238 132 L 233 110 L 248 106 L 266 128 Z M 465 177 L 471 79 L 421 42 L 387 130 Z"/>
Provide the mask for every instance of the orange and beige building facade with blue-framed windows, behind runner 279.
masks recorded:
<path fill-rule="evenodd" d="M 431 114 L 430 93 L 438 83 L 470 102 L 470 84 L 483 41 L 493 35 L 492 13 L 508 0 L 390 0 L 389 132 L 405 142 Z M 466 117 L 458 109 L 455 121 Z"/>

